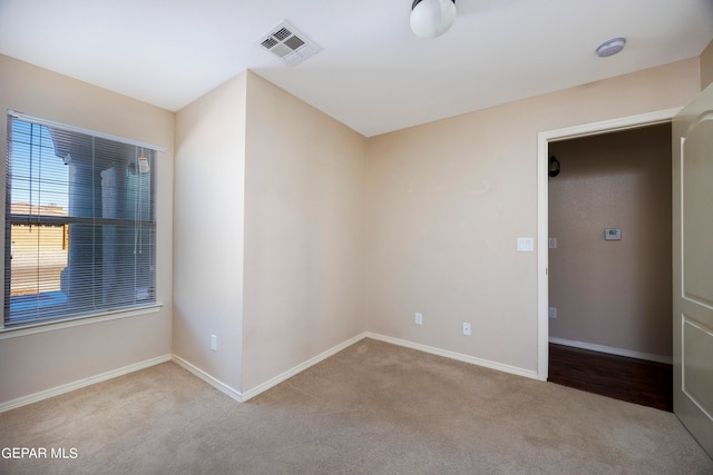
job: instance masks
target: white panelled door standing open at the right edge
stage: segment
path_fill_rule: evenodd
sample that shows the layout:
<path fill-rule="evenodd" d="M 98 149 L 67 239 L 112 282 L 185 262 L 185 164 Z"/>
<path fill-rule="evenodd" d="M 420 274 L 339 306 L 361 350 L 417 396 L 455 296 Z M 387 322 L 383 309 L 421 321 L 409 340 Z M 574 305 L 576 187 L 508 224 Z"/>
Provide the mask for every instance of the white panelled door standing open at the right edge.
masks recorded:
<path fill-rule="evenodd" d="M 713 86 L 673 121 L 674 413 L 713 457 Z"/>

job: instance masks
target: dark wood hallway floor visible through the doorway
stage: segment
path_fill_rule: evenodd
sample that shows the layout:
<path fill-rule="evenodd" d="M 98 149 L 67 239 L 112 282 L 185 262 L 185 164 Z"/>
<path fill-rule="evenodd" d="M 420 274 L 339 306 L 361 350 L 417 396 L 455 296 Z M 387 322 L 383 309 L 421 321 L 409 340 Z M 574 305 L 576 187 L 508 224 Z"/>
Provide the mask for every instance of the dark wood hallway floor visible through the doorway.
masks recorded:
<path fill-rule="evenodd" d="M 673 410 L 673 366 L 663 363 L 550 344 L 548 380 Z"/>

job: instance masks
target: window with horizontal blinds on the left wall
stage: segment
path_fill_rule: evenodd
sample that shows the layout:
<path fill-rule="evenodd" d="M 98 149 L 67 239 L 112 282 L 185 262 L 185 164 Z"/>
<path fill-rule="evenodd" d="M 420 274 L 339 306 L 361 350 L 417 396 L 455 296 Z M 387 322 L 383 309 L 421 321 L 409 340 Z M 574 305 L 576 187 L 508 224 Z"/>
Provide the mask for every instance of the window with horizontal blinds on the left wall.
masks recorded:
<path fill-rule="evenodd" d="M 155 304 L 158 150 L 10 112 L 6 327 Z"/>

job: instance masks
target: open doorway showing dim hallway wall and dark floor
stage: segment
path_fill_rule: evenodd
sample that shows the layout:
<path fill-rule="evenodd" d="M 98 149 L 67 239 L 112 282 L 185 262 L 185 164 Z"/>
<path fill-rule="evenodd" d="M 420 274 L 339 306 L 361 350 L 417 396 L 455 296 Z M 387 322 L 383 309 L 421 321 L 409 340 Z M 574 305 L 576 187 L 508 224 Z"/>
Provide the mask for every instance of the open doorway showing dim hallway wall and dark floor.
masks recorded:
<path fill-rule="evenodd" d="M 671 412 L 671 123 L 549 156 L 548 380 Z"/>

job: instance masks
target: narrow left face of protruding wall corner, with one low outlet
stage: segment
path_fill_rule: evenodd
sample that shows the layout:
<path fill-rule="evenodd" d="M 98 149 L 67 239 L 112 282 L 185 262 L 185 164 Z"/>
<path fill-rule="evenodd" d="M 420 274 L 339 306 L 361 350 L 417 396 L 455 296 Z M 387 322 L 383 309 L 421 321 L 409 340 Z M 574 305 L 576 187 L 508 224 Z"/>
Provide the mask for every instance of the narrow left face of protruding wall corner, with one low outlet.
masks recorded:
<path fill-rule="evenodd" d="M 177 112 L 174 174 L 174 354 L 238 393 L 245 88 L 242 73 Z"/>

